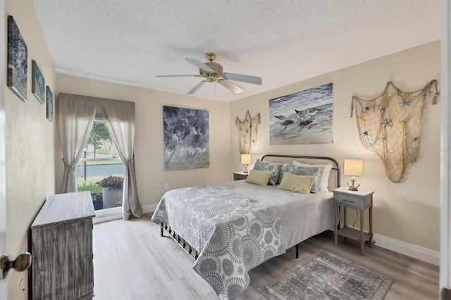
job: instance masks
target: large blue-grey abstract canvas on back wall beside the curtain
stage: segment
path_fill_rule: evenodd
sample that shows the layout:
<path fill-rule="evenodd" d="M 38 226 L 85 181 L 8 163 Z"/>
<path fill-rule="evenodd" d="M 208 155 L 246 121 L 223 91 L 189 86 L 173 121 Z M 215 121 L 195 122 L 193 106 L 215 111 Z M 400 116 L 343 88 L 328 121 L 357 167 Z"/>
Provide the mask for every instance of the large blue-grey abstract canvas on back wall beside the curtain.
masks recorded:
<path fill-rule="evenodd" d="M 209 168 L 209 112 L 163 106 L 164 170 Z"/>

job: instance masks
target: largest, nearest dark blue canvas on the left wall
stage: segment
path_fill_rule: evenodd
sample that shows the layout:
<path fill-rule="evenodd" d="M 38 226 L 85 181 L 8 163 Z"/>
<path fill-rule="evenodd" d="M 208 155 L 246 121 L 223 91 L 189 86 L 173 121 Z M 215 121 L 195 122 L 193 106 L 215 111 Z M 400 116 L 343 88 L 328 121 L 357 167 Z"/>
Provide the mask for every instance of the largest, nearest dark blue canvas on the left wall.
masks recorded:
<path fill-rule="evenodd" d="M 27 101 L 28 49 L 13 16 L 8 15 L 8 87 Z"/>

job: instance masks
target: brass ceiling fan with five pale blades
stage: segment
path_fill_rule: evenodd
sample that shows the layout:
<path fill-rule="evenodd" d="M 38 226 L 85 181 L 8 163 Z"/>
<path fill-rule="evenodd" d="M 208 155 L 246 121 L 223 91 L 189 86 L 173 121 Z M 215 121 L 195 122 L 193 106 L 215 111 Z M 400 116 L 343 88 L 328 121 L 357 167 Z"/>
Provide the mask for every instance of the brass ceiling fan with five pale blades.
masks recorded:
<path fill-rule="evenodd" d="M 244 89 L 241 87 L 238 87 L 233 82 L 230 82 L 229 80 L 235 80 L 235 81 L 241 81 L 241 82 L 247 82 L 252 83 L 253 85 L 261 85 L 261 78 L 255 77 L 255 76 L 249 76 L 249 75 L 241 75 L 241 74 L 235 74 L 235 73 L 224 73 L 223 72 L 223 66 L 219 63 L 214 63 L 214 58 L 216 58 L 216 54 L 214 53 L 207 53 L 206 58 L 208 58 L 209 62 L 202 63 L 201 61 L 198 61 L 194 58 L 185 58 L 185 60 L 189 63 L 192 63 L 193 65 L 197 66 L 199 68 L 199 75 L 156 75 L 156 77 L 204 77 L 205 80 L 202 80 L 199 82 L 196 86 L 194 86 L 190 92 L 187 92 L 188 95 L 194 94 L 197 89 L 202 87 L 205 82 L 218 82 L 220 85 L 223 85 L 224 87 L 230 89 L 230 91 L 234 92 L 235 94 L 240 94 L 241 92 L 244 92 Z"/>

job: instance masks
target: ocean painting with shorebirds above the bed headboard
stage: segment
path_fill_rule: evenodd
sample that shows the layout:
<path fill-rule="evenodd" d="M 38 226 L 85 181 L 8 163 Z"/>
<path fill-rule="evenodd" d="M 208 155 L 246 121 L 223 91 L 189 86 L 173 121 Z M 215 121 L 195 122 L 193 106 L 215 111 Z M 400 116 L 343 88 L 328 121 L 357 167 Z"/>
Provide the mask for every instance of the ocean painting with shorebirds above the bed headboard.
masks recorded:
<path fill-rule="evenodd" d="M 332 83 L 269 100 L 269 144 L 331 144 Z"/>

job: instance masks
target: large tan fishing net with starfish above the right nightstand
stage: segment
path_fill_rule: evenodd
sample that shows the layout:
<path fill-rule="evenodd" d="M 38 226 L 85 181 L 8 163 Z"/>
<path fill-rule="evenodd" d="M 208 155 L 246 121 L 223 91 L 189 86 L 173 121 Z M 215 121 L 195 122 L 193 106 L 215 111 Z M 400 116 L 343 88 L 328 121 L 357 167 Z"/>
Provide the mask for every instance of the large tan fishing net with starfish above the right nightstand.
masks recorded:
<path fill-rule="evenodd" d="M 419 156 L 426 101 L 437 103 L 437 80 L 416 92 L 402 92 L 388 82 L 381 96 L 371 100 L 352 96 L 360 142 L 383 162 L 392 182 L 405 180 Z"/>

